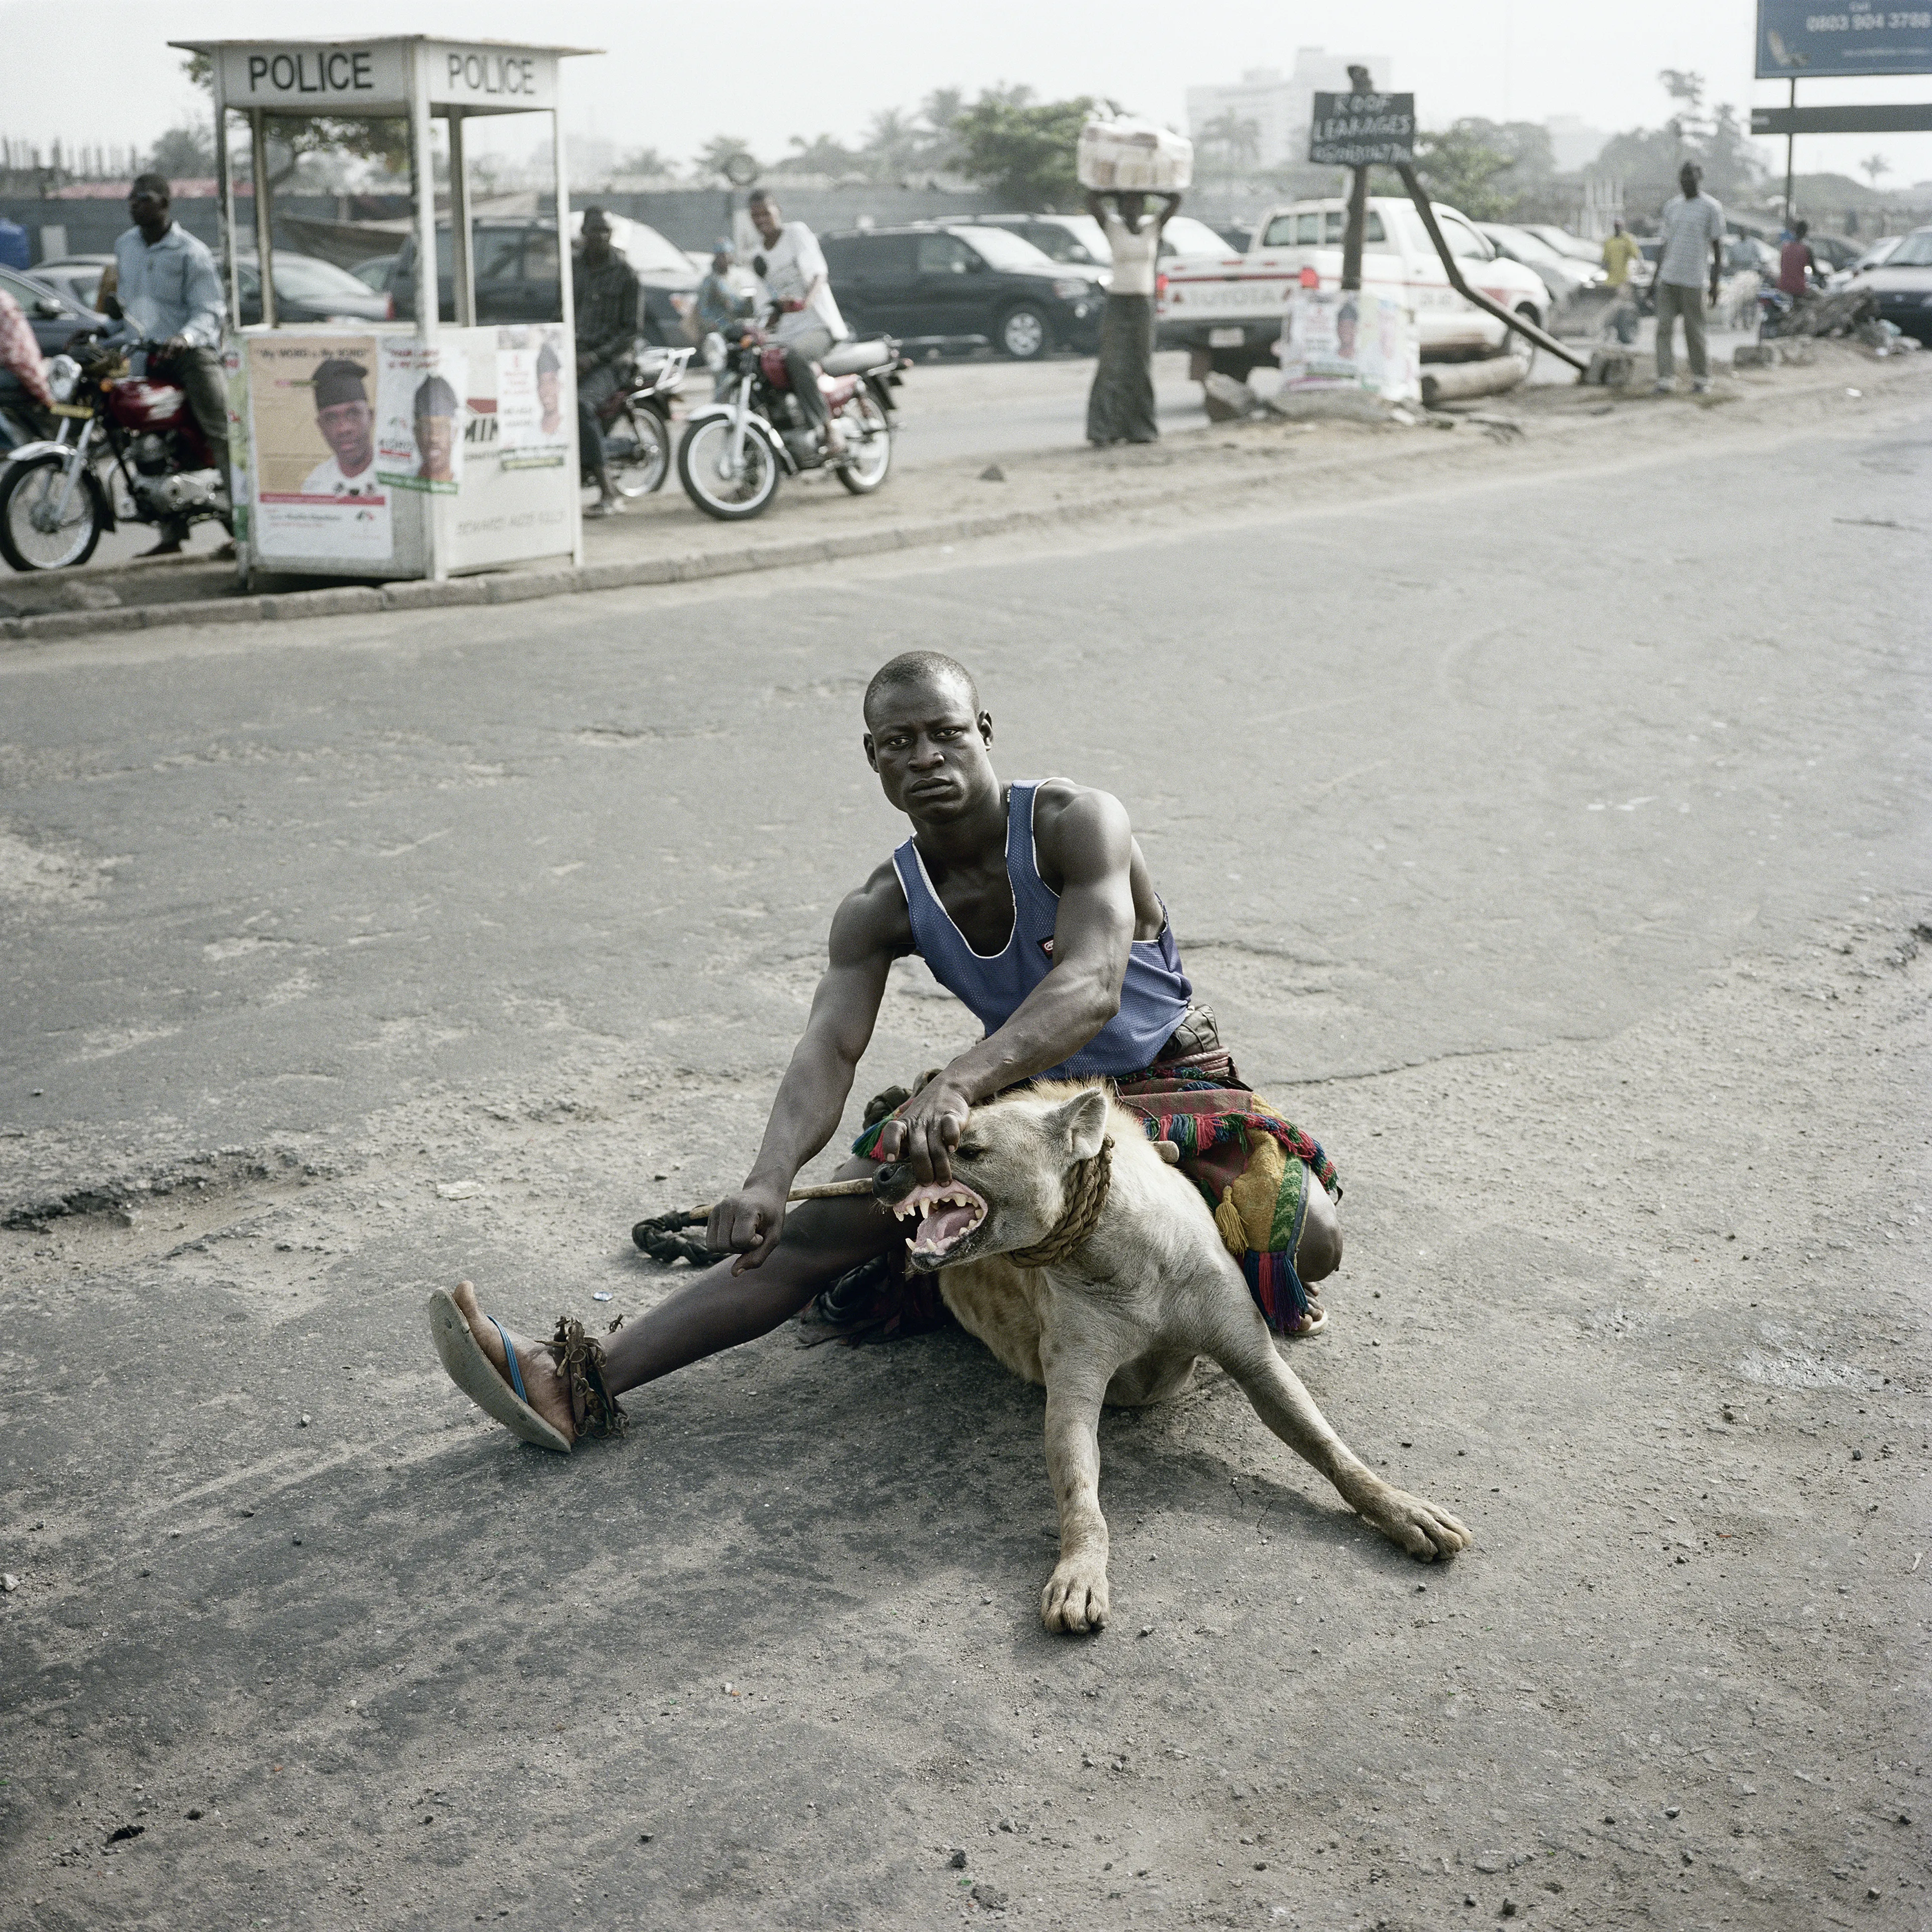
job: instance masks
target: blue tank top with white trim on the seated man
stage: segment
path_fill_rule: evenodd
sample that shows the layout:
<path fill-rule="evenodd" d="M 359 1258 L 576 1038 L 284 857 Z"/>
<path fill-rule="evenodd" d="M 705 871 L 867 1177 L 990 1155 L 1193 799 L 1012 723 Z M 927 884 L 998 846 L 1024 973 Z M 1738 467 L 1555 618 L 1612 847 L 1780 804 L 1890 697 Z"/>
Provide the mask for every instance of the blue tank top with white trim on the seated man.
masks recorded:
<path fill-rule="evenodd" d="M 1053 970 L 1053 922 L 1061 895 L 1039 877 L 1034 856 L 1034 794 L 1039 781 L 1012 784 L 1007 796 L 1007 879 L 1012 885 L 1012 933 L 1003 951 L 974 952 L 952 914 L 939 902 L 918 844 L 908 838 L 893 866 L 912 916 L 912 949 L 933 978 L 956 993 L 987 1034 L 1012 1018 L 1020 1001 Z M 1049 1066 L 1041 1080 L 1105 1074 L 1124 1080 L 1153 1065 L 1153 1055 L 1188 1010 L 1194 987 L 1180 970 L 1173 927 L 1161 908 L 1161 937 L 1136 939 L 1121 985 L 1121 1010 L 1068 1061 Z"/>

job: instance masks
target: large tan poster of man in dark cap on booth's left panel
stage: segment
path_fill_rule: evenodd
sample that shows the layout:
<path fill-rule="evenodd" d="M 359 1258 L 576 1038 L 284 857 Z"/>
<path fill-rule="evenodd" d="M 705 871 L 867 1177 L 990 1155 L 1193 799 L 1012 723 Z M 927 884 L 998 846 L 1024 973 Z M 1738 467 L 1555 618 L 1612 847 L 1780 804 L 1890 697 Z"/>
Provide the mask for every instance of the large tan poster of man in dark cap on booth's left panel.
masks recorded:
<path fill-rule="evenodd" d="M 249 338 L 249 543 L 257 556 L 390 560 L 375 381 L 375 336 Z"/>

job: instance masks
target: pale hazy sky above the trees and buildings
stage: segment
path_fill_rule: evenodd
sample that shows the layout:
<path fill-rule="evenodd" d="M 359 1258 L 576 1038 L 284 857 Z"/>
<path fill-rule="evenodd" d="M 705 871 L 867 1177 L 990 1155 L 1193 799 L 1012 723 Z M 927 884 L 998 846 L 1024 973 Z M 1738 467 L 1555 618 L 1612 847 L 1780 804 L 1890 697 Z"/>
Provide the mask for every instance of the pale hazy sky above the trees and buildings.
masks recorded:
<path fill-rule="evenodd" d="M 290 37 L 317 12 L 267 0 L 91 0 L 79 12 L 0 0 L 0 133 L 151 143 L 197 104 L 170 39 Z M 1337 25 L 1343 15 L 1347 33 Z M 1026 81 L 1041 95 L 1111 95 L 1182 126 L 1190 83 L 1235 79 L 1252 66 L 1287 70 L 1296 46 L 1389 54 L 1395 85 L 1414 91 L 1424 124 L 1577 114 L 1605 129 L 1656 126 L 1667 112 L 1660 68 L 1694 68 L 1714 100 L 1741 108 L 1783 100 L 1781 83 L 1750 77 L 1752 0 L 1354 0 L 1349 8 L 1192 0 L 1184 10 L 1115 0 L 1105 14 L 1092 0 L 978 0 L 964 10 L 881 0 L 653 8 L 334 0 L 327 19 L 334 37 L 388 29 L 529 39 L 541 23 L 562 44 L 605 48 L 566 70 L 566 124 L 678 158 L 721 131 L 763 155 L 782 153 L 794 133 L 852 137 L 877 108 L 912 106 L 933 87 L 976 91 L 993 81 Z M 1922 100 L 1928 85 L 1816 81 L 1799 99 Z M 1932 135 L 1812 137 L 1799 143 L 1799 168 L 1851 174 L 1874 151 L 1891 160 L 1888 185 L 1932 176 Z"/>

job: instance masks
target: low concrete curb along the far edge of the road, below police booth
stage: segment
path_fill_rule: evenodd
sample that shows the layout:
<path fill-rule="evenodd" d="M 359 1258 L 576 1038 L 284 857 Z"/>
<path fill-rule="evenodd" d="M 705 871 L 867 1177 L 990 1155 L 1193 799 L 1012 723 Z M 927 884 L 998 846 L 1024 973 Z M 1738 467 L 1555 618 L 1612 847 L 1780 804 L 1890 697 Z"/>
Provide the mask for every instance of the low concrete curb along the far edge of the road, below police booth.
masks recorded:
<path fill-rule="evenodd" d="M 1899 365 L 1897 375 L 1913 369 L 1917 359 Z M 1932 354 L 1926 355 L 1932 365 Z M 1864 381 L 1874 388 L 1893 371 L 1870 371 Z M 1779 388 L 1779 402 L 1799 402 L 1843 386 L 1843 371 L 1822 381 Z M 1770 398 L 1766 398 L 1770 400 Z M 1575 431 L 1586 419 L 1548 421 L 1544 431 Z M 1439 437 L 1422 437 L 1391 444 L 1379 452 L 1405 458 L 1426 450 L 1443 450 Z M 1296 479 L 1306 479 L 1320 468 L 1360 468 L 1356 452 L 1341 454 L 1331 464 L 1296 468 Z M 1217 483 L 1190 483 L 1188 504 L 1211 504 L 1233 497 L 1254 497 L 1279 483 L 1279 475 L 1246 473 Z M 887 524 L 885 527 L 844 531 L 827 537 L 796 537 L 788 543 L 761 543 L 732 551 L 697 551 L 686 556 L 649 556 L 636 562 L 583 564 L 570 570 L 506 572 L 502 576 L 450 578 L 442 583 L 338 583 L 317 591 L 278 591 L 263 597 L 199 597 L 184 603 L 133 605 L 106 611 L 54 611 L 43 616 L 0 618 L 0 641 L 50 643 L 62 638 L 95 638 L 129 630 L 168 630 L 176 624 L 255 624 L 290 622 L 315 616 L 354 616 L 381 611 L 437 611 L 450 605 L 508 605 L 537 597 L 574 597 L 589 591 L 632 589 L 647 583 L 699 583 L 707 578 L 742 576 L 755 570 L 790 570 L 800 564 L 827 564 L 848 556 L 877 556 L 885 551 L 912 551 L 935 543 L 970 543 L 978 537 L 999 537 L 1016 529 L 1037 529 L 1043 524 L 1078 524 L 1092 518 L 1117 516 L 1153 508 L 1175 500 L 1175 483 L 1167 479 L 1153 489 L 1095 491 L 1080 502 L 1041 504 L 1026 510 L 987 510 L 966 516 L 933 518 L 923 524 Z"/>

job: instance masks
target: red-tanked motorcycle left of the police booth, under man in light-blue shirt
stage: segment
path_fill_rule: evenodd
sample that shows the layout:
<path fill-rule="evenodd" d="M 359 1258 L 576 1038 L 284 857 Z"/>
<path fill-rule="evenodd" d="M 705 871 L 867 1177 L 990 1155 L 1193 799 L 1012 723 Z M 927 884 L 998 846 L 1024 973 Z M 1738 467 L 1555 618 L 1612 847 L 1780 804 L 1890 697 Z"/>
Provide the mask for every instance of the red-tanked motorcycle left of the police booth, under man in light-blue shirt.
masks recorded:
<path fill-rule="evenodd" d="M 135 373 L 129 355 L 141 357 Z M 118 524 L 232 529 L 222 479 L 158 342 L 75 336 L 48 363 L 52 439 L 23 442 L 0 471 L 0 554 L 15 570 L 71 570 Z"/>

